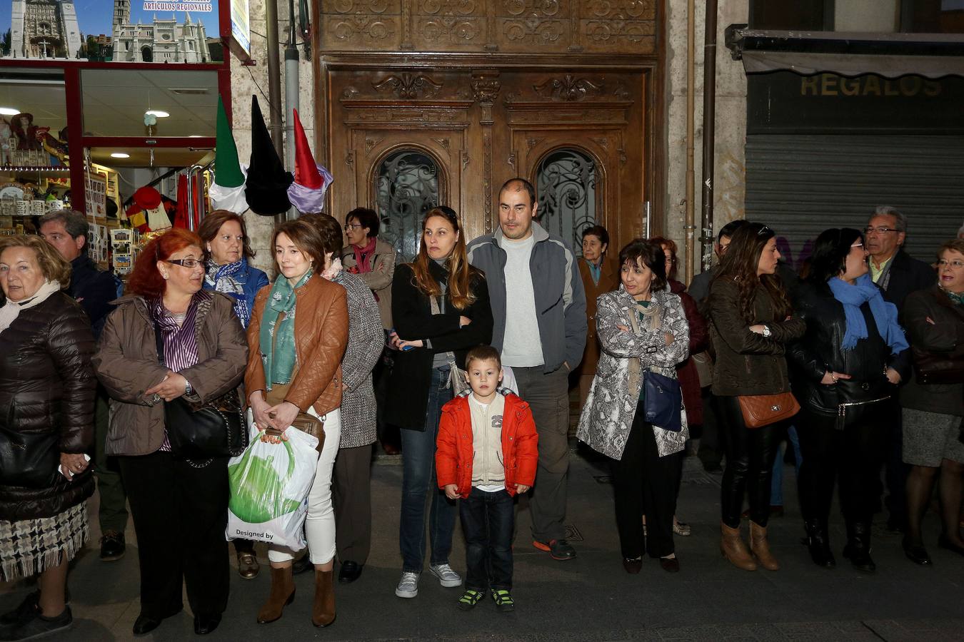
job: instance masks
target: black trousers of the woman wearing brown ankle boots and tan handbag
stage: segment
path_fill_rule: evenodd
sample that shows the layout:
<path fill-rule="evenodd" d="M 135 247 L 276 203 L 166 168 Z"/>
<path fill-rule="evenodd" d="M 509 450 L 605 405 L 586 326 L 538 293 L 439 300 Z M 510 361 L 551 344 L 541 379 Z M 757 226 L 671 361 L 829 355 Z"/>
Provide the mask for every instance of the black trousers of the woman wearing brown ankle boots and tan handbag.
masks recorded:
<path fill-rule="evenodd" d="M 743 497 L 750 501 L 750 519 L 766 526 L 770 517 L 770 479 L 773 459 L 784 434 L 783 424 L 748 428 L 736 397 L 717 397 L 720 434 L 726 451 L 726 469 L 720 493 L 721 519 L 731 528 L 739 527 Z M 804 455 L 804 460 L 807 456 Z"/>

